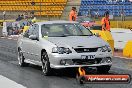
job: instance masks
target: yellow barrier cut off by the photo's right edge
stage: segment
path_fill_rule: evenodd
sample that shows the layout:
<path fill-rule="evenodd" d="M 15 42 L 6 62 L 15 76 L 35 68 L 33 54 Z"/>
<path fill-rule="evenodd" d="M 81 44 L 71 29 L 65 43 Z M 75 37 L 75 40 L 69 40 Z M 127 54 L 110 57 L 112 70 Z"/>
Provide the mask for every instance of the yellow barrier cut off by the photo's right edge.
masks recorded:
<path fill-rule="evenodd" d="M 124 47 L 123 56 L 132 58 L 132 40 L 128 41 Z"/>

